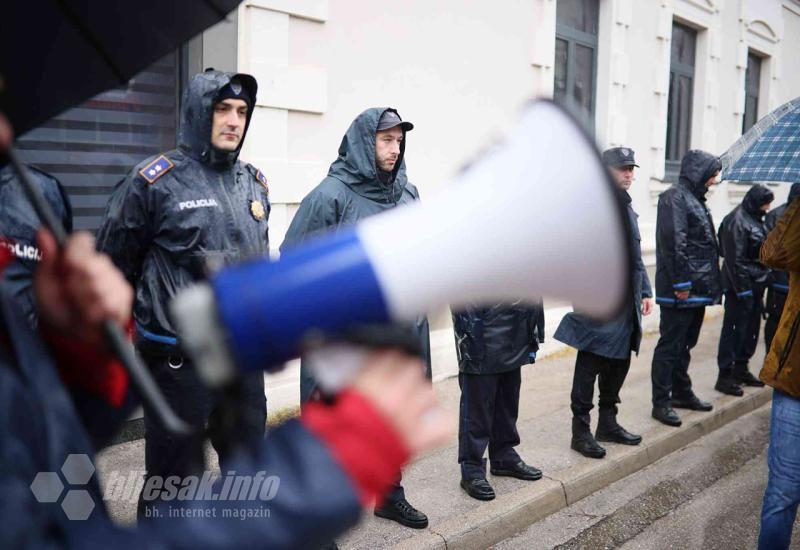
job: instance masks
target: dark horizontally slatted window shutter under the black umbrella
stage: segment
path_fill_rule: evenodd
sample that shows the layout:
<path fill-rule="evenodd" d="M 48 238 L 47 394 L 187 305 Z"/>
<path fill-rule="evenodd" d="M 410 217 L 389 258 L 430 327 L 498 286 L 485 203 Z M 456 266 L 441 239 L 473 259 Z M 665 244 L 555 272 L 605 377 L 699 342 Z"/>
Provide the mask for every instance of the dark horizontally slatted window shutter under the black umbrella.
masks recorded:
<path fill-rule="evenodd" d="M 176 144 L 178 54 L 123 88 L 104 92 L 27 132 L 22 159 L 58 178 L 72 202 L 75 229 L 94 231 L 114 185 L 136 164 Z"/>

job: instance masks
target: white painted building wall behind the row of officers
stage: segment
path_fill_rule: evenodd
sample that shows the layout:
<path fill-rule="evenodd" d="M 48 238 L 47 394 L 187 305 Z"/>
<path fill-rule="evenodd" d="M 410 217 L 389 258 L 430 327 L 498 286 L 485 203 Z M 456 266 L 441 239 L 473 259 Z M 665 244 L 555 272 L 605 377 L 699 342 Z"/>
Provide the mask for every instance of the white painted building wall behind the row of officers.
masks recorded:
<path fill-rule="evenodd" d="M 446 185 L 524 101 L 552 94 L 555 14 L 556 0 L 245 0 L 238 68 L 260 91 L 243 158 L 270 180 L 273 249 L 368 107 L 395 107 L 416 125 L 406 160 L 423 200 Z M 650 262 L 675 20 L 698 29 L 693 148 L 722 154 L 739 137 L 748 48 L 766 56 L 761 114 L 800 95 L 798 0 L 601 0 L 597 140 L 636 151 L 631 194 Z M 713 190 L 717 223 L 745 190 Z M 788 186 L 775 190 L 777 205 Z M 433 324 L 451 354 L 446 313 Z"/>

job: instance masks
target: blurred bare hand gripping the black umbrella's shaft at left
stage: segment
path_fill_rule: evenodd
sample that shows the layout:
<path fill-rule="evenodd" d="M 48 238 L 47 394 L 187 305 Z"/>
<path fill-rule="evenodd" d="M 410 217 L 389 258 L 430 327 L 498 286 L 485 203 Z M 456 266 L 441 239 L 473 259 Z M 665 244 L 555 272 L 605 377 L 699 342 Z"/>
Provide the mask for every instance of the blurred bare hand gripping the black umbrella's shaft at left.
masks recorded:
<path fill-rule="evenodd" d="M 106 319 L 127 327 L 133 290 L 109 257 L 95 250 L 91 235 L 75 233 L 64 250 L 47 230 L 39 230 L 37 241 L 42 259 L 33 285 L 43 322 L 91 344 L 102 342 Z"/>

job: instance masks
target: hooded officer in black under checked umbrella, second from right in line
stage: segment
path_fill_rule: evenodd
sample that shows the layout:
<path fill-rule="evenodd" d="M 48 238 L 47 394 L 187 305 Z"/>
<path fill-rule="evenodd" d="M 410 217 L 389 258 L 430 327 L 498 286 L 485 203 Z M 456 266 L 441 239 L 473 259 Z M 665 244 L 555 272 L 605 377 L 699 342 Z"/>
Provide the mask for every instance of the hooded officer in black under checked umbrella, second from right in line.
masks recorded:
<path fill-rule="evenodd" d="M 739 384 L 764 385 L 750 373 L 747 363 L 756 351 L 761 329 L 769 268 L 759 261 L 758 255 L 767 238 L 764 215 L 774 199 L 772 191 L 754 185 L 719 226 L 725 317 L 719 336 L 719 375 L 714 388 L 728 395 L 743 395 Z"/>

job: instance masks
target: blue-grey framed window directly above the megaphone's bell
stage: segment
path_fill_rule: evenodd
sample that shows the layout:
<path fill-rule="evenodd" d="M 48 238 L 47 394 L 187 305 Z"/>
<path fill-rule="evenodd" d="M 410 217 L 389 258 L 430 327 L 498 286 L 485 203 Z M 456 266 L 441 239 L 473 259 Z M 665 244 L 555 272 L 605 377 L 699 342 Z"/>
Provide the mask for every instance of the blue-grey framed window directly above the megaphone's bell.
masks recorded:
<path fill-rule="evenodd" d="M 558 0 L 553 99 L 594 128 L 598 0 Z"/>

